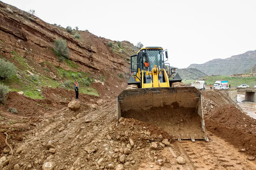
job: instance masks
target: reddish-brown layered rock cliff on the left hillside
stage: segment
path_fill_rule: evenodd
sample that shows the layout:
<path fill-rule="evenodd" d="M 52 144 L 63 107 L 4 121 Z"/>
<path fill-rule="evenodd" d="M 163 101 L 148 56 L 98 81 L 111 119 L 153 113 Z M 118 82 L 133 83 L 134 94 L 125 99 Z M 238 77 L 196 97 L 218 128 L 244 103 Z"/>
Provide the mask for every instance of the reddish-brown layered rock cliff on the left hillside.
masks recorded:
<path fill-rule="evenodd" d="M 65 62 L 59 62 L 53 53 L 54 41 L 67 41 L 73 62 L 84 72 L 113 71 L 122 73 L 129 66 L 129 56 L 137 48 L 127 41 L 122 50 L 109 47 L 109 39 L 95 36 L 88 31 L 78 31 L 80 39 L 66 32 L 62 27 L 51 25 L 38 17 L 0 1 L 0 55 L 13 57 L 15 51 L 21 57 L 32 58 L 35 62 L 48 61 L 55 66 L 71 69 Z"/>

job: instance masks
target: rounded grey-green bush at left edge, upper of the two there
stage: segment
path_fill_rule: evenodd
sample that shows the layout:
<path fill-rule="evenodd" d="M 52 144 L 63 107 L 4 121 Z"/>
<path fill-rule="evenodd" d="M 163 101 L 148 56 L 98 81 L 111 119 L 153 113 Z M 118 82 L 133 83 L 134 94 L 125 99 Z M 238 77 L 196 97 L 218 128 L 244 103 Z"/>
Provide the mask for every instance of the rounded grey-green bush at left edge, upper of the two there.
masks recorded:
<path fill-rule="evenodd" d="M 16 75 L 16 67 L 10 61 L 5 61 L 0 58 L 0 79 L 8 79 L 11 78 L 13 75 Z"/>

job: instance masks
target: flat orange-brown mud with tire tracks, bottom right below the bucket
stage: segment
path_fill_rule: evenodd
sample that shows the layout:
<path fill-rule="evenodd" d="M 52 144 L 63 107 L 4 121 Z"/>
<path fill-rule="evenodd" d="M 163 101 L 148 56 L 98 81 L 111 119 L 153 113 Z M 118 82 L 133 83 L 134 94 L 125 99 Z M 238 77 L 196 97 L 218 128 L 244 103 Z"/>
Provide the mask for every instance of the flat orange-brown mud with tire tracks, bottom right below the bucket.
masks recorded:
<path fill-rule="evenodd" d="M 175 141 L 174 146 L 186 159 L 186 169 L 255 169 L 255 161 L 247 161 L 246 155 L 214 136 L 206 141 Z M 177 152 L 177 150 L 176 150 Z M 184 168 L 184 167 L 183 167 Z"/>

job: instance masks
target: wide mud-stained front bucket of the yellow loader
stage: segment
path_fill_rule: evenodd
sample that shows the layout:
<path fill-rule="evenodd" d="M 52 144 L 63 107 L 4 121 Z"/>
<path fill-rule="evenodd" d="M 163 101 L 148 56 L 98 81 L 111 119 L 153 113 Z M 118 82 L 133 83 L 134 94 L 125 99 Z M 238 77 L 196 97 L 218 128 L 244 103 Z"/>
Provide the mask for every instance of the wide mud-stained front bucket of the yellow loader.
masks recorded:
<path fill-rule="evenodd" d="M 201 92 L 195 87 L 123 90 L 117 96 L 117 121 L 133 118 L 162 127 L 175 139 L 204 139 Z"/>

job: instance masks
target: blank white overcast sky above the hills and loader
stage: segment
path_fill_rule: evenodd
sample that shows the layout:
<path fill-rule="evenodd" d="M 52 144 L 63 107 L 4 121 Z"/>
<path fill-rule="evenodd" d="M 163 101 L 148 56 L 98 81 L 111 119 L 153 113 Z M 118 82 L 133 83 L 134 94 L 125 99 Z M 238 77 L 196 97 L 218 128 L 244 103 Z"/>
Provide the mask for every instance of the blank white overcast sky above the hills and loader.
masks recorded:
<path fill-rule="evenodd" d="M 2 0 L 63 27 L 168 49 L 178 68 L 255 50 L 254 0 Z"/>

